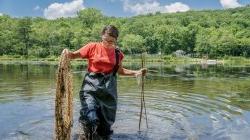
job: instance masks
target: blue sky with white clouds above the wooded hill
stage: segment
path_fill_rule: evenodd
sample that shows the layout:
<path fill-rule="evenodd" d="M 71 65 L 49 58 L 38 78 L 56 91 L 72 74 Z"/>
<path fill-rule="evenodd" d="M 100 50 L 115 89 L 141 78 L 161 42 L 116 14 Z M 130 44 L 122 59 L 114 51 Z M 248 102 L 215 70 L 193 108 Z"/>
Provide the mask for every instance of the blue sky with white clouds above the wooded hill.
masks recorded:
<path fill-rule="evenodd" d="M 0 16 L 74 17 L 85 8 L 99 9 L 106 16 L 131 17 L 147 13 L 175 13 L 202 9 L 228 9 L 250 0 L 0 0 Z"/>

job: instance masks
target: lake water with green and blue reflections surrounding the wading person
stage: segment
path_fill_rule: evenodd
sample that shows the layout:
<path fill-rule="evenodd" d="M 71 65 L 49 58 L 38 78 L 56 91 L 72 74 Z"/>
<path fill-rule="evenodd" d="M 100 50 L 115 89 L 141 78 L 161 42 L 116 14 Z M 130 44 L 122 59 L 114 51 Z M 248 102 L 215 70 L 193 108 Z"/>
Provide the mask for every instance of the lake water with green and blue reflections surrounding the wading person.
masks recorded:
<path fill-rule="evenodd" d="M 149 128 L 138 132 L 140 88 L 118 78 L 113 139 L 248 140 L 250 66 L 148 64 L 145 100 Z M 136 69 L 138 64 L 128 64 Z M 53 139 L 56 65 L 0 64 L 0 139 Z M 85 66 L 73 69 L 74 126 Z"/>

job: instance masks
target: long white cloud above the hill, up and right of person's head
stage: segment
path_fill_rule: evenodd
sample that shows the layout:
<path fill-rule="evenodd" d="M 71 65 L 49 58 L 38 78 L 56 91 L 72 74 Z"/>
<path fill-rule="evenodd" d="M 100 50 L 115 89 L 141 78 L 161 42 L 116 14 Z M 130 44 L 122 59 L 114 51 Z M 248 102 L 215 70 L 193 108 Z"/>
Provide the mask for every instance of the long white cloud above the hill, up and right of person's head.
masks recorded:
<path fill-rule="evenodd" d="M 190 10 L 190 7 L 181 2 L 171 3 L 170 5 L 161 6 L 157 0 L 146 0 L 144 2 L 137 1 L 136 3 L 130 0 L 123 0 L 123 9 L 126 12 L 135 13 L 136 15 L 147 14 L 147 13 L 175 13 L 175 12 L 186 12 Z"/>

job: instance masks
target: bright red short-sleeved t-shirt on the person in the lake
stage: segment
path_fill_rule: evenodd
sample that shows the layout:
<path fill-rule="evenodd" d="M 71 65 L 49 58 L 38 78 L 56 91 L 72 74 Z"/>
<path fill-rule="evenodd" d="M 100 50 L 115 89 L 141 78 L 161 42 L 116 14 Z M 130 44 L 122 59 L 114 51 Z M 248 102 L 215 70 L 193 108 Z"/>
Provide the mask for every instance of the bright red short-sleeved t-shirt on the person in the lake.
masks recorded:
<path fill-rule="evenodd" d="M 82 58 L 88 59 L 88 71 L 96 73 L 111 73 L 116 64 L 115 48 L 103 46 L 101 42 L 92 42 L 79 49 Z M 119 61 L 124 54 L 120 51 Z M 119 64 L 120 64 L 119 62 Z"/>

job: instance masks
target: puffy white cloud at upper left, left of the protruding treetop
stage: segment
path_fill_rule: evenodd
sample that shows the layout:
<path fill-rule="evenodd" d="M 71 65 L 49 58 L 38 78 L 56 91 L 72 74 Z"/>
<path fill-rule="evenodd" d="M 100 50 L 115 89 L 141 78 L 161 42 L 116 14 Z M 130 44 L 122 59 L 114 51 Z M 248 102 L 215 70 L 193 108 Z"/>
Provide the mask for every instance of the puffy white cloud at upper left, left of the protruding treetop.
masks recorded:
<path fill-rule="evenodd" d="M 47 19 L 74 17 L 81 9 L 84 9 L 83 0 L 73 0 L 66 3 L 52 3 L 45 8 L 43 14 Z"/>

